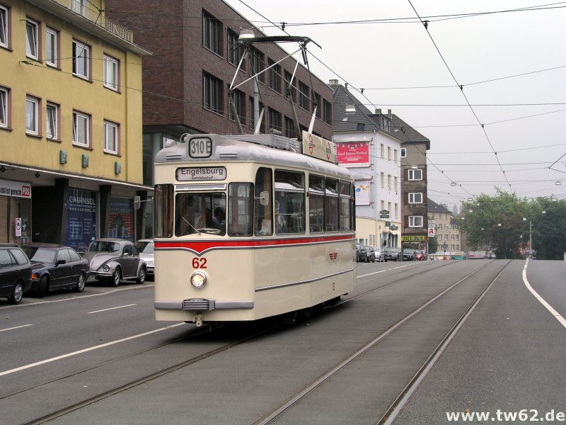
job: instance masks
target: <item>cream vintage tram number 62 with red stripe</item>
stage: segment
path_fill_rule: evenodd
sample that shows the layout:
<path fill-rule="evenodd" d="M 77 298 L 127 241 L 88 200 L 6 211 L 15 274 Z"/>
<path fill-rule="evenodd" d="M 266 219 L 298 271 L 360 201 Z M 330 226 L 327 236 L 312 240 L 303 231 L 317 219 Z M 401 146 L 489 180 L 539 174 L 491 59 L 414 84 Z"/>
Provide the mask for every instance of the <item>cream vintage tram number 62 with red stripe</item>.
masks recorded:
<path fill-rule="evenodd" d="M 157 320 L 253 321 L 354 288 L 354 181 L 332 142 L 187 134 L 154 178 Z"/>

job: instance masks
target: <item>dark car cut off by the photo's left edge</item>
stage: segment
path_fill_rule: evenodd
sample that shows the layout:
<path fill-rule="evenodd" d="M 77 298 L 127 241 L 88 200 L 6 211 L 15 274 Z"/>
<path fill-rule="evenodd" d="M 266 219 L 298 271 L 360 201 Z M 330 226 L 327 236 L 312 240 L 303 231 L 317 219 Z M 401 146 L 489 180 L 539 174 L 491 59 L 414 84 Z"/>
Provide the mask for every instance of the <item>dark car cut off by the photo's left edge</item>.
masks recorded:
<path fill-rule="evenodd" d="M 19 304 L 31 287 L 31 263 L 16 244 L 0 244 L 0 297 Z"/>

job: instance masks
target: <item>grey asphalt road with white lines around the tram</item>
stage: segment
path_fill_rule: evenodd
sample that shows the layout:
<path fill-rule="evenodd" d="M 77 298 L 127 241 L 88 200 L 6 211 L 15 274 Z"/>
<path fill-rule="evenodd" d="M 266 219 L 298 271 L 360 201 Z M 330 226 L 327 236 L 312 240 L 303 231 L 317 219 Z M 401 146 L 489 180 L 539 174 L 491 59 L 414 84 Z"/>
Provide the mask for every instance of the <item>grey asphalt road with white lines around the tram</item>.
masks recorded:
<path fill-rule="evenodd" d="M 359 285 L 346 297 L 350 302 L 50 423 L 251 424 L 481 266 L 275 421 L 375 424 L 504 264 L 359 264 Z M 495 419 L 497 409 L 502 417 L 522 409 L 529 418 L 534 409 L 542 416 L 553 411 L 555 418 L 566 412 L 566 328 L 526 288 L 524 266 L 512 261 L 504 268 L 394 424 L 463 423 L 449 422 L 446 412 L 491 412 Z M 526 272 L 533 289 L 562 317 L 565 270 L 565 262 L 530 261 Z M 367 294 L 356 298 L 362 293 Z M 2 424 L 28 423 L 71 401 L 198 357 L 241 329 L 253 330 L 243 325 L 211 334 L 192 324 L 155 322 L 151 283 L 118 290 L 87 286 L 83 294 L 26 297 L 16 307 L 0 300 L 0 314 Z"/>

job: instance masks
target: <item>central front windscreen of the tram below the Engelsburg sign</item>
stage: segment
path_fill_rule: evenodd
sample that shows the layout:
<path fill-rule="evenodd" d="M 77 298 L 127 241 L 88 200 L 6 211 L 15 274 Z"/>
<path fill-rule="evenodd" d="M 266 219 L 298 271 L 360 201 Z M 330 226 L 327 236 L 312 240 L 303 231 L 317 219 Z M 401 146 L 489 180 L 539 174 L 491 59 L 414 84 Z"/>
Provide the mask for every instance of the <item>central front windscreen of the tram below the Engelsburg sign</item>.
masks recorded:
<path fill-rule="evenodd" d="M 226 220 L 222 220 L 219 213 L 223 211 L 225 214 L 225 193 L 178 193 L 175 197 L 175 236 L 226 234 Z M 213 212 L 216 212 L 216 220 Z"/>

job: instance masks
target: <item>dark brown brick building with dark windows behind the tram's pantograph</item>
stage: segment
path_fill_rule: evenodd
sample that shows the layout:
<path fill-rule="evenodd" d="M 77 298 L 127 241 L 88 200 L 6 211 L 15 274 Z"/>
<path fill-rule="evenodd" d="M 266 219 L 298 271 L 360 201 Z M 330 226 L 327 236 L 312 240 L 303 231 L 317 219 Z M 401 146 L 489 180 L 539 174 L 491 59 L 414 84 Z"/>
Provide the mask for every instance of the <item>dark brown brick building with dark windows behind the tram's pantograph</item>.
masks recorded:
<path fill-rule="evenodd" d="M 296 137 L 289 96 L 306 130 L 316 101 L 313 133 L 332 137 L 332 90 L 278 45 L 255 45 L 241 70 L 237 41 L 241 29 L 252 29 L 243 16 L 221 0 L 106 0 L 109 16 L 132 28 L 141 45 L 154 52 L 144 59 L 144 183 L 153 184 L 155 154 L 184 133 L 238 132 L 229 109 L 228 89 L 243 132 L 277 130 Z M 141 12 L 143 11 L 143 12 Z M 296 50 L 296 43 L 288 50 Z M 309 48 L 316 49 L 315 45 Z M 287 59 L 285 59 L 287 57 Z M 279 62 L 281 61 L 281 62 Z M 250 75 L 271 67 L 257 80 Z M 291 84 L 291 77 L 296 74 Z M 248 81 L 246 81 L 248 80 Z M 287 86 L 292 90 L 287 94 Z M 260 105 L 265 113 L 259 123 Z"/>

